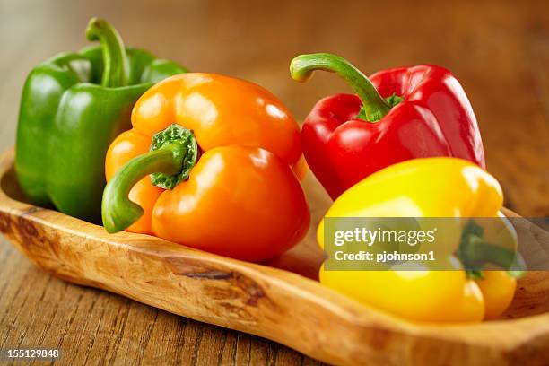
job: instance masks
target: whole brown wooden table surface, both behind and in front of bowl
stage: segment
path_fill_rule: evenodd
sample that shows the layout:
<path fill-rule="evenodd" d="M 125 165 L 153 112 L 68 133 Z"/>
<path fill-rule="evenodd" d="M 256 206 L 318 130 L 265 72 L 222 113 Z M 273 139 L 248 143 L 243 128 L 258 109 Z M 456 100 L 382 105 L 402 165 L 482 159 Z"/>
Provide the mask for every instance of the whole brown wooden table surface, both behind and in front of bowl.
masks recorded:
<path fill-rule="evenodd" d="M 292 82 L 288 64 L 299 53 L 338 53 L 366 74 L 444 65 L 472 101 L 506 205 L 526 216 L 549 215 L 548 2 L 335 3 L 1 0 L 0 149 L 13 145 L 30 68 L 86 45 L 83 30 L 97 15 L 113 22 L 126 44 L 265 86 L 300 119 L 320 97 L 349 88 L 329 74 Z M 3 347 L 61 348 L 63 364 L 318 363 L 256 336 L 64 283 L 0 238 Z"/>

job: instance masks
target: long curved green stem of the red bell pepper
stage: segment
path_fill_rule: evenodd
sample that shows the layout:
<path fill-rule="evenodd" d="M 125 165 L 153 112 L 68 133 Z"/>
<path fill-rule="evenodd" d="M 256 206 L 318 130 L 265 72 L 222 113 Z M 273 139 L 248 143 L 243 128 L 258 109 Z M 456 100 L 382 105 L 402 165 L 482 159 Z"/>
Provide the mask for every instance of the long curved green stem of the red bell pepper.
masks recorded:
<path fill-rule="evenodd" d="M 343 57 L 328 53 L 300 55 L 293 58 L 290 64 L 290 74 L 297 82 L 308 81 L 316 70 L 338 74 L 353 88 L 362 100 L 359 117 L 363 115 L 369 122 L 376 122 L 391 109 L 370 79 Z"/>

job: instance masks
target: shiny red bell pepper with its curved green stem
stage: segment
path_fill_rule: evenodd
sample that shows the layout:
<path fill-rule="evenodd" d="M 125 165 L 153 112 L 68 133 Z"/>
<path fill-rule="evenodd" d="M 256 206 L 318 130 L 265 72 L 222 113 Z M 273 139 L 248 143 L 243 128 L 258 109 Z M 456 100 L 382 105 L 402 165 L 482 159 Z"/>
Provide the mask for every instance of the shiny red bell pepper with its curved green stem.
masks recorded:
<path fill-rule="evenodd" d="M 399 161 L 453 156 L 485 168 L 475 113 L 447 69 L 398 67 L 369 79 L 331 54 L 301 55 L 290 65 L 299 82 L 315 70 L 338 74 L 356 92 L 319 100 L 301 130 L 309 167 L 333 199 Z"/>

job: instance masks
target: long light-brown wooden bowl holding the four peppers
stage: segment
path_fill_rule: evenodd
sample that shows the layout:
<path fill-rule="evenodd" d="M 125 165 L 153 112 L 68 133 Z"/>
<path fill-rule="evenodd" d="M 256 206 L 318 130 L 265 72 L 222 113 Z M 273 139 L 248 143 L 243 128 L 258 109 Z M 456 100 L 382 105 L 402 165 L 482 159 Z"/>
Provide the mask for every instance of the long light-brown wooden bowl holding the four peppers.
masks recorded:
<path fill-rule="evenodd" d="M 65 281 L 260 335 L 324 362 L 549 364 L 549 272 L 520 279 L 500 320 L 414 324 L 318 283 L 323 257 L 313 229 L 283 256 L 251 264 L 148 235 L 109 235 L 101 226 L 24 203 L 13 150 L 0 158 L 0 179 L 0 232 L 37 266 Z M 311 177 L 305 186 L 314 228 L 329 200 Z"/>

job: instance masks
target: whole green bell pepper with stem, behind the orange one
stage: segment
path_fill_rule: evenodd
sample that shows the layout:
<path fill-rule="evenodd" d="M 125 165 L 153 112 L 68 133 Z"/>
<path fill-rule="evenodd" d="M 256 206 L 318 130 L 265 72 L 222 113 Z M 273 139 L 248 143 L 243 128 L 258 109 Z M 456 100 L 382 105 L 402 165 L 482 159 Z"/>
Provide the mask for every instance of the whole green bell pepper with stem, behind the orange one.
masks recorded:
<path fill-rule="evenodd" d="M 125 48 L 118 32 L 99 19 L 90 21 L 86 37 L 100 46 L 59 54 L 27 77 L 15 170 L 34 204 L 100 222 L 109 144 L 130 127 L 135 101 L 153 83 L 186 69 Z"/>

